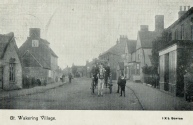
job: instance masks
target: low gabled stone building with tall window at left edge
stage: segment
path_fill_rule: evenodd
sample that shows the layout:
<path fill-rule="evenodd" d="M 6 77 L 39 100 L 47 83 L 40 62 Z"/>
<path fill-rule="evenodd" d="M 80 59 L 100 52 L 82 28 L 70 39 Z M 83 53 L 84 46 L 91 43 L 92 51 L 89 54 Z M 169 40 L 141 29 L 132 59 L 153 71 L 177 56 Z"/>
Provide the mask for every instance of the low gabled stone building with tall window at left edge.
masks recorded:
<path fill-rule="evenodd" d="M 0 88 L 22 88 L 22 66 L 14 34 L 0 34 Z"/>

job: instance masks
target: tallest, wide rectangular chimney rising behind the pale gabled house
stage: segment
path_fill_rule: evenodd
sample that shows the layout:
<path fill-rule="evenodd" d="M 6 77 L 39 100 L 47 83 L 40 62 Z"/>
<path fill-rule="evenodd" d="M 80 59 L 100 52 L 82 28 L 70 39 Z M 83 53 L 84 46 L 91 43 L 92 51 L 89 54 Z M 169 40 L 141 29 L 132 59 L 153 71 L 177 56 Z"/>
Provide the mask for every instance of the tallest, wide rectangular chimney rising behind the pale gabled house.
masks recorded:
<path fill-rule="evenodd" d="M 164 30 L 164 15 L 155 16 L 155 31 L 162 32 Z"/>

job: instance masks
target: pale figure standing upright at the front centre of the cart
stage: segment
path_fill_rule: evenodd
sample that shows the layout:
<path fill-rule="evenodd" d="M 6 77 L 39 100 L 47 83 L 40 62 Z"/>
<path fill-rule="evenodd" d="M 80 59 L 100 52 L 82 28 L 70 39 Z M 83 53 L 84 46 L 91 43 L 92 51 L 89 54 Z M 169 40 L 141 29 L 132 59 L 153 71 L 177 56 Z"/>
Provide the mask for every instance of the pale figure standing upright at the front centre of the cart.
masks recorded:
<path fill-rule="evenodd" d="M 104 78 L 105 78 L 105 69 L 102 63 L 100 63 L 98 72 L 98 96 L 103 96 Z"/>

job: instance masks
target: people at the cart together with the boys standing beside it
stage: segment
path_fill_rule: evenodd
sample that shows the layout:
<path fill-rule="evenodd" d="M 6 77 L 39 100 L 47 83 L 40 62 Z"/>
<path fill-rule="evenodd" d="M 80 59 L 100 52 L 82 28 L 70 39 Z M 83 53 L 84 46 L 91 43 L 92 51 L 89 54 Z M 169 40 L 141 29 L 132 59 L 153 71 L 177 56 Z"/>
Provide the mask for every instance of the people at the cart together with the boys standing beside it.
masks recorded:
<path fill-rule="evenodd" d="M 94 87 L 98 85 L 98 96 L 103 96 L 103 87 L 104 84 L 107 88 L 108 86 L 108 81 L 110 79 L 110 66 L 108 63 L 99 63 L 95 64 L 92 68 L 92 80 L 94 83 Z M 118 90 L 117 93 L 119 93 L 119 90 L 121 91 L 120 96 L 122 96 L 122 93 L 125 97 L 125 86 L 126 86 L 126 79 L 123 75 L 123 72 L 120 73 L 120 76 L 118 77 L 117 80 L 118 84 Z"/>

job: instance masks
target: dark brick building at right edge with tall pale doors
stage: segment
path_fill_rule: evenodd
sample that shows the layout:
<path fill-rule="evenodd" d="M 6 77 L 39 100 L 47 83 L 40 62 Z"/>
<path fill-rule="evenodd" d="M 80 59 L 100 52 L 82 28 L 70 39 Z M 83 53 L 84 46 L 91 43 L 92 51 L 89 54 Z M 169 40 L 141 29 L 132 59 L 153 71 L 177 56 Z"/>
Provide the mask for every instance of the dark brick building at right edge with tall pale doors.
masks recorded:
<path fill-rule="evenodd" d="M 183 96 L 184 74 L 193 62 L 193 7 L 180 7 L 179 18 L 170 25 L 168 44 L 159 51 L 160 89 Z"/>

